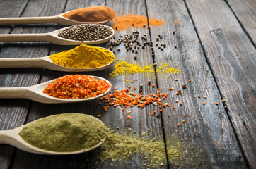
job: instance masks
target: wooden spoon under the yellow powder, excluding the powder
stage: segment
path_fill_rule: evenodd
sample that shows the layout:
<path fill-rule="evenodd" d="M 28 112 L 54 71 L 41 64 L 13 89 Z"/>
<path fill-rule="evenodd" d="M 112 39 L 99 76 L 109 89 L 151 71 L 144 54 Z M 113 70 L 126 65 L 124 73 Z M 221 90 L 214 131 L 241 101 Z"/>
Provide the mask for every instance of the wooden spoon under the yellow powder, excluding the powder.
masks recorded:
<path fill-rule="evenodd" d="M 63 72 L 90 72 L 110 68 L 114 61 L 115 59 L 111 63 L 98 68 L 69 68 L 53 63 L 49 56 L 42 58 L 0 58 L 0 68 L 47 68 Z"/>

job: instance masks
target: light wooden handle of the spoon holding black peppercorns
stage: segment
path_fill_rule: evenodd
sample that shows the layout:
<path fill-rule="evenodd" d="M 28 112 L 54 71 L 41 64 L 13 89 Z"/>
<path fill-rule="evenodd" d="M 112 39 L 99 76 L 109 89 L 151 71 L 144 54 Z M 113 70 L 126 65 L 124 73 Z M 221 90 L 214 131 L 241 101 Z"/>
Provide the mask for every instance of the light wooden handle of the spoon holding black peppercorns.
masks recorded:
<path fill-rule="evenodd" d="M 2 34 L 0 42 L 49 42 L 51 38 L 47 33 L 42 34 Z"/>

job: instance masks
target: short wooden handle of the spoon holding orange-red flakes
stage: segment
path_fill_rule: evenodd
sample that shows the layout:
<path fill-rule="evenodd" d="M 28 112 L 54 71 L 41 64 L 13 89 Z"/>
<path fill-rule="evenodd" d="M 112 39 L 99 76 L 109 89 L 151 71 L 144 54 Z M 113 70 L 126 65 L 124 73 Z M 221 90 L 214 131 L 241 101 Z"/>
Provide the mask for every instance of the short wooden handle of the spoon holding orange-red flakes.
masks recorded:
<path fill-rule="evenodd" d="M 27 99 L 28 94 L 27 87 L 0 87 L 0 99 Z"/>

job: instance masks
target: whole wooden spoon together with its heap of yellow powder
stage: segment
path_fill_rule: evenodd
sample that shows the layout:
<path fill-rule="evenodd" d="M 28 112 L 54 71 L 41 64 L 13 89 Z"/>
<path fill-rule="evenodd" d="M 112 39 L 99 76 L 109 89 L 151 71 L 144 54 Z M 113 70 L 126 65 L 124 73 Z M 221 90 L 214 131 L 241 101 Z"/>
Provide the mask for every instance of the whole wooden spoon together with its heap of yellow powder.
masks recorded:
<path fill-rule="evenodd" d="M 109 68 L 115 61 L 112 51 L 81 44 L 42 58 L 0 58 L 0 68 L 47 68 L 67 72 L 88 72 Z"/>

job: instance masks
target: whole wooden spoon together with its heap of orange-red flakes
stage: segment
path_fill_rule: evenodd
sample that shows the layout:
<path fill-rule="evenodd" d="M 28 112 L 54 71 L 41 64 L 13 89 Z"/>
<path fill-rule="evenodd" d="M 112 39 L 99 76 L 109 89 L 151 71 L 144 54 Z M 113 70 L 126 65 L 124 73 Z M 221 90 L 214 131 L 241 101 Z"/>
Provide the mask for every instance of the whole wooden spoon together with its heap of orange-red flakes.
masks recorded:
<path fill-rule="evenodd" d="M 31 99 L 45 104 L 91 101 L 109 92 L 111 83 L 102 77 L 65 75 L 30 87 L 0 87 L 1 99 Z"/>

